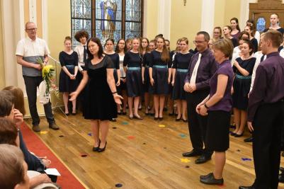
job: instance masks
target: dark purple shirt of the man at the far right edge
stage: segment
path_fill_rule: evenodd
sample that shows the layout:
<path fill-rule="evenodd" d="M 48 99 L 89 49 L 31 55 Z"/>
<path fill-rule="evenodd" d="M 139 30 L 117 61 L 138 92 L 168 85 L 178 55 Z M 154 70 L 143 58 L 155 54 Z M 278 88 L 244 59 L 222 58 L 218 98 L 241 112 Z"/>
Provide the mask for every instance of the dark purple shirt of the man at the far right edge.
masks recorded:
<path fill-rule="evenodd" d="M 284 97 L 284 59 L 271 52 L 256 69 L 254 88 L 249 95 L 248 121 L 254 120 L 259 105 L 276 103 Z"/>

